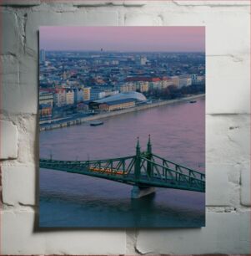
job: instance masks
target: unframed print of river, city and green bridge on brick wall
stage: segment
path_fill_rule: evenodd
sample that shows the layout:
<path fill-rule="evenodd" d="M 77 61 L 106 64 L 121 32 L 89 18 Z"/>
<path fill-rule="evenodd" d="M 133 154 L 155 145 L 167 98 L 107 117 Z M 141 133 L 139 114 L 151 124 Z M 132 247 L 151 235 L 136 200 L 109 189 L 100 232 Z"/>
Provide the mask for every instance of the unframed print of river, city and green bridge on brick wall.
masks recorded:
<path fill-rule="evenodd" d="M 205 28 L 39 29 L 39 226 L 205 226 Z"/>

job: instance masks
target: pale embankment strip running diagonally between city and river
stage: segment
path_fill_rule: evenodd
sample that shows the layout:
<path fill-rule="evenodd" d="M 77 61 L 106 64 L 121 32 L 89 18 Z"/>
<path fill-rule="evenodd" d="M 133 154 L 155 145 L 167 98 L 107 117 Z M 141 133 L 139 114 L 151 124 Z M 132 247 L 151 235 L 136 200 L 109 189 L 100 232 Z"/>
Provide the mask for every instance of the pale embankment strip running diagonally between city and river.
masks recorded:
<path fill-rule="evenodd" d="M 85 122 L 88 122 L 88 121 L 99 120 L 99 119 L 103 119 L 103 118 L 113 116 L 113 115 L 122 115 L 122 114 L 133 112 L 133 111 L 148 110 L 150 108 L 158 107 L 158 106 L 161 106 L 161 105 L 168 105 L 168 104 L 173 104 L 173 103 L 182 102 L 182 101 L 195 100 L 197 98 L 203 97 L 204 95 L 205 94 L 191 95 L 191 96 L 184 97 L 182 99 L 177 99 L 177 100 L 162 100 L 162 101 L 154 102 L 152 104 L 138 105 L 138 106 L 135 106 L 133 108 L 128 108 L 128 109 L 124 109 L 124 110 L 118 110 L 118 111 L 102 113 L 102 114 L 98 114 L 98 115 L 91 115 L 91 116 L 86 116 L 86 117 L 79 117 L 79 118 L 76 118 L 76 119 L 73 119 L 73 120 L 65 120 L 65 121 L 60 122 L 60 123 L 51 123 L 51 124 L 48 124 L 48 125 L 40 126 L 39 131 L 48 131 L 48 130 L 67 127 L 67 126 L 70 126 L 70 125 L 81 125 L 81 124 L 83 124 Z"/>

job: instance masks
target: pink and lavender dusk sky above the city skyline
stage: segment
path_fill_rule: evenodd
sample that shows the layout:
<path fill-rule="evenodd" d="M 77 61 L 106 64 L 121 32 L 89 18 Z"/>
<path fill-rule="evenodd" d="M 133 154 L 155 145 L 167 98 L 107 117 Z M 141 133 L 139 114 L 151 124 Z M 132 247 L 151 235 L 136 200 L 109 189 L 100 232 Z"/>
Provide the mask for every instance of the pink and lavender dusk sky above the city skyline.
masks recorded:
<path fill-rule="evenodd" d="M 40 27 L 40 49 L 204 52 L 204 27 Z"/>

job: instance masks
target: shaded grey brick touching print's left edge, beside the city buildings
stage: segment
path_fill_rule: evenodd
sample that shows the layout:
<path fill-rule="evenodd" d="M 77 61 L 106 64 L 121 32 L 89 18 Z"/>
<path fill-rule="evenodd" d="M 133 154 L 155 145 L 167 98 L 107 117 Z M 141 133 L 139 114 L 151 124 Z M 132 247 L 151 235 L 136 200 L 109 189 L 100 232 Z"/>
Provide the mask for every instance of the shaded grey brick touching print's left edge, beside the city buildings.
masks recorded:
<path fill-rule="evenodd" d="M 8 113 L 37 114 L 38 63 L 30 56 L 3 57 L 3 104 Z"/>

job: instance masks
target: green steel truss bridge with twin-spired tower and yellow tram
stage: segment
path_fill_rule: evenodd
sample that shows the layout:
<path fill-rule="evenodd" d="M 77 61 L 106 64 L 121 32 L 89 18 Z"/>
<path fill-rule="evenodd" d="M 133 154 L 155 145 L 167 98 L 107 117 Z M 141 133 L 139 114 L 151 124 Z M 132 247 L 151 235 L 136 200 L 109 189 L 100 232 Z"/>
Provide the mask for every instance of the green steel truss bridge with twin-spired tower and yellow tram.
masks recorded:
<path fill-rule="evenodd" d="M 150 136 L 147 151 L 140 150 L 138 141 L 134 156 L 93 161 L 57 161 L 52 157 L 41 158 L 39 166 L 133 185 L 133 198 L 154 192 L 154 187 L 205 192 L 205 174 L 153 154 Z"/>

